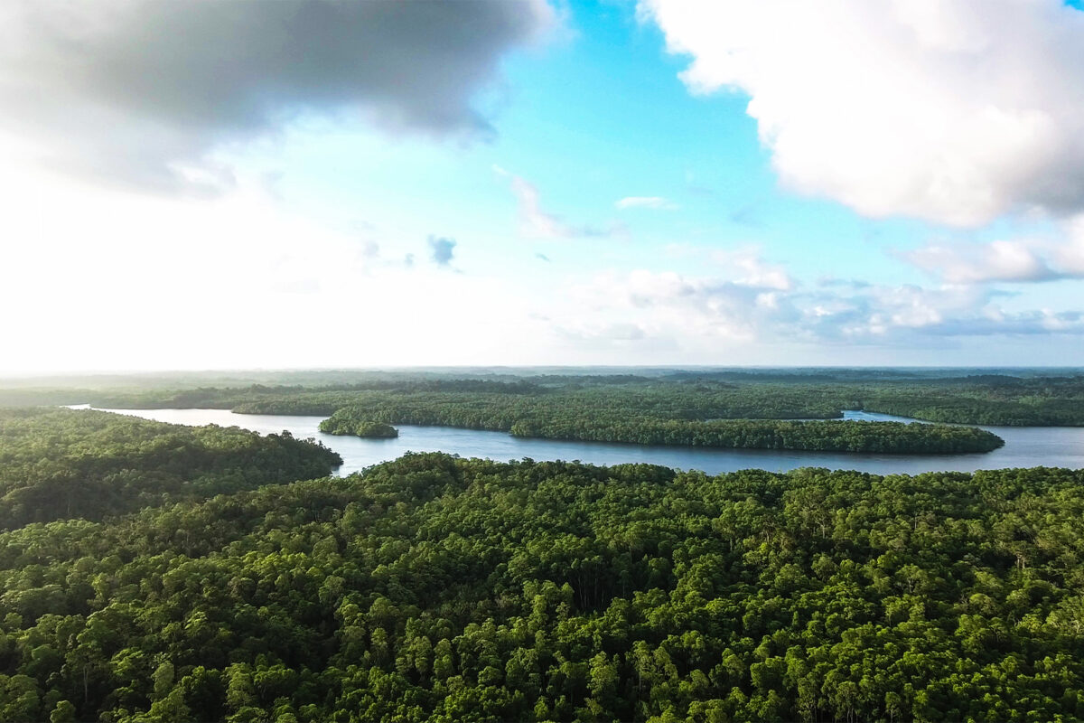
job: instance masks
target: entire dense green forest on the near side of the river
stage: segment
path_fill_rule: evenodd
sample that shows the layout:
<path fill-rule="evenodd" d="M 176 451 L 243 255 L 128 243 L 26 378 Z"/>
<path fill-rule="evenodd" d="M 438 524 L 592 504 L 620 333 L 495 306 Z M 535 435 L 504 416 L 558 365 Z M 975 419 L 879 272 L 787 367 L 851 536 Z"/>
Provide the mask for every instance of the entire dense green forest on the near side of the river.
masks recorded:
<path fill-rule="evenodd" d="M 409 454 L 287 481 L 334 460 L 87 411 L 2 418 L 3 479 L 142 479 L 125 494 L 143 508 L 54 494 L 8 519 L 0 720 L 1084 716 L 1081 470 Z M 257 489 L 177 481 L 235 454 L 293 466 Z"/>

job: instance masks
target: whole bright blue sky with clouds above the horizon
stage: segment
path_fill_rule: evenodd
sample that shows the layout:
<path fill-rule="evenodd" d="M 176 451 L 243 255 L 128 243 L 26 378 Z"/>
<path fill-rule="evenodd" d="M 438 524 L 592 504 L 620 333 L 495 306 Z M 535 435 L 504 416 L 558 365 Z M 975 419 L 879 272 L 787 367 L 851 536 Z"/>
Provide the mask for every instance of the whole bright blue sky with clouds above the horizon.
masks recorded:
<path fill-rule="evenodd" d="M 1084 364 L 1057 0 L 8 0 L 0 374 Z"/>

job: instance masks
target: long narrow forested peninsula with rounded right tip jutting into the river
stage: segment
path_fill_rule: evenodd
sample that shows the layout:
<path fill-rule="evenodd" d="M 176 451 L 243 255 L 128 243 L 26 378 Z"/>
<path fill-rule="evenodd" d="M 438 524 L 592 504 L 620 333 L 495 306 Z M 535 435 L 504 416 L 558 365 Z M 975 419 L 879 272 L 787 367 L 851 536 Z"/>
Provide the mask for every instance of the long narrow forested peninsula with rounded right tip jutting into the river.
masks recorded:
<path fill-rule="evenodd" d="M 507 430 L 517 437 L 541 437 L 634 444 L 675 444 L 760 450 L 870 452 L 882 454 L 954 454 L 990 452 L 1005 442 L 975 427 L 902 422 L 779 422 L 773 419 L 680 421 L 643 415 L 599 415 L 566 409 L 564 414 L 530 414 L 508 424 L 502 411 L 486 416 L 474 405 L 436 403 L 345 406 L 320 425 L 321 431 L 353 434 L 376 419 L 388 424 L 436 424 Z M 364 435 L 362 435 L 364 436 Z"/>

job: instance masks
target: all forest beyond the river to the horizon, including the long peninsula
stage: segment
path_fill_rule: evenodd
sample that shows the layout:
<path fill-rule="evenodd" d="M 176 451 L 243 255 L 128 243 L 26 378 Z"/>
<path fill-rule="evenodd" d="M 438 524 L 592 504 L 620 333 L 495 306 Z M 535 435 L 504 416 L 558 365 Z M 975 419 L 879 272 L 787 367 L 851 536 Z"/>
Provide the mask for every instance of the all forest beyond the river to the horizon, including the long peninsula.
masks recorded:
<path fill-rule="evenodd" d="M 392 437 L 392 425 L 506 431 L 520 437 L 731 449 L 878 454 L 963 454 L 997 449 L 992 431 L 947 426 L 1084 424 L 1084 375 L 941 375 L 900 370 L 297 373 L 299 384 L 177 389 L 179 379 L 133 388 L 0 390 L 89 400 L 103 408 L 211 408 L 241 414 L 318 415 L 321 430 Z M 333 382 L 325 384 L 325 382 Z M 188 383 L 191 385 L 191 380 Z M 64 397 L 67 393 L 67 397 Z M 839 423 L 846 410 L 913 415 L 926 425 Z"/>

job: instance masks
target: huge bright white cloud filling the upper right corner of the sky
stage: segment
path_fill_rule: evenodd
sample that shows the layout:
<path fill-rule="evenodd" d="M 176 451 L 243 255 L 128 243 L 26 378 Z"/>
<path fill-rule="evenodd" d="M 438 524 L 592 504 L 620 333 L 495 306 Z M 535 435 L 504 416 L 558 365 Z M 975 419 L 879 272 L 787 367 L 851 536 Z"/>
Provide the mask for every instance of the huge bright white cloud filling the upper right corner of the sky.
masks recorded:
<path fill-rule="evenodd" d="M 749 96 L 785 186 L 975 227 L 1084 210 L 1084 13 L 1060 0 L 641 0 L 694 93 Z"/>

